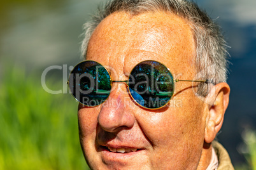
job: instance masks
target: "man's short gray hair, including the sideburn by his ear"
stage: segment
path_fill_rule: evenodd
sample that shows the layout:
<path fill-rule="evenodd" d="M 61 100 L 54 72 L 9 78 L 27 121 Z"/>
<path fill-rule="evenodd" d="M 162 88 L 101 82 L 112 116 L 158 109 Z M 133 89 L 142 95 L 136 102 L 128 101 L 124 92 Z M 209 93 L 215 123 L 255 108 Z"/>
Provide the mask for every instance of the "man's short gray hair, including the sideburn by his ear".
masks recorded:
<path fill-rule="evenodd" d="M 196 42 L 195 79 L 210 79 L 217 84 L 227 81 L 227 45 L 220 32 L 220 27 L 211 20 L 205 11 L 199 9 L 196 3 L 187 0 L 112 0 L 98 8 L 92 20 L 84 24 L 84 39 L 82 55 L 85 59 L 87 46 L 97 25 L 106 16 L 116 11 L 125 11 L 138 15 L 147 11 L 167 11 L 185 19 L 191 25 Z M 208 85 L 199 84 L 197 95 L 206 96 Z"/>

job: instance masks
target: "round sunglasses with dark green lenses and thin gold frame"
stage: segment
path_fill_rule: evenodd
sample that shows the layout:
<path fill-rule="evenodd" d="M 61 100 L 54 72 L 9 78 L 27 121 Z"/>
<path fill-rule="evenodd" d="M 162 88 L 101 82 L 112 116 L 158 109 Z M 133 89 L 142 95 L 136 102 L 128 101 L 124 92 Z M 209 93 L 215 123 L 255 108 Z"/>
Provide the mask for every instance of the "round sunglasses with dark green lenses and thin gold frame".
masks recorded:
<path fill-rule="evenodd" d="M 87 107 L 96 107 L 108 99 L 113 82 L 124 82 L 139 106 L 158 109 L 167 105 L 174 93 L 174 79 L 162 63 L 146 60 L 138 63 L 127 81 L 114 81 L 108 70 L 92 60 L 78 63 L 69 75 L 69 89 L 74 98 Z M 190 82 L 208 82 L 197 80 Z"/>

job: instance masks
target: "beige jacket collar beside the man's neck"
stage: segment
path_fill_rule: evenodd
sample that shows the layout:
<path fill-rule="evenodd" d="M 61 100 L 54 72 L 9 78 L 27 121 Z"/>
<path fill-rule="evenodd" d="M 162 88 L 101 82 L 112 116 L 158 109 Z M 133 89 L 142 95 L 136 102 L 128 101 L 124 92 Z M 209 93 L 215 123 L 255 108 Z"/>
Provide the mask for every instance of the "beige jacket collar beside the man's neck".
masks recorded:
<path fill-rule="evenodd" d="M 217 141 L 213 141 L 212 145 L 218 156 L 218 170 L 233 170 L 234 167 L 232 166 L 227 150 Z"/>

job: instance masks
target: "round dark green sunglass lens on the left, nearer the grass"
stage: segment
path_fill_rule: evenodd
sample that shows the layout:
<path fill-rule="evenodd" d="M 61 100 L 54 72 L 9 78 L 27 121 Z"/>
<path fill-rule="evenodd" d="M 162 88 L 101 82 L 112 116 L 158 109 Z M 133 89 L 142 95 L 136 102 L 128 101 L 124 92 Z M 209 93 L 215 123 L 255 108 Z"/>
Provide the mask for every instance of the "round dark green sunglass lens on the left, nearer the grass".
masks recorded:
<path fill-rule="evenodd" d="M 100 63 L 81 62 L 69 75 L 69 89 L 80 103 L 95 107 L 110 95 L 110 74 Z"/>

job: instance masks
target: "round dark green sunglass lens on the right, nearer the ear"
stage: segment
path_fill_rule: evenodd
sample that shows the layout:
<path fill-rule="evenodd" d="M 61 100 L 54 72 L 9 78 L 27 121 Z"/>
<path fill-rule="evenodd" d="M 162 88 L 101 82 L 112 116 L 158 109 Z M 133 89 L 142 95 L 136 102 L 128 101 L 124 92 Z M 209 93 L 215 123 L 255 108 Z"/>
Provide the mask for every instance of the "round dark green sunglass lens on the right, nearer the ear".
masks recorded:
<path fill-rule="evenodd" d="M 152 60 L 132 69 L 128 85 L 132 98 L 145 108 L 164 107 L 173 96 L 173 75 L 167 67 Z"/>

